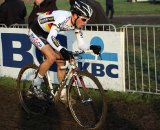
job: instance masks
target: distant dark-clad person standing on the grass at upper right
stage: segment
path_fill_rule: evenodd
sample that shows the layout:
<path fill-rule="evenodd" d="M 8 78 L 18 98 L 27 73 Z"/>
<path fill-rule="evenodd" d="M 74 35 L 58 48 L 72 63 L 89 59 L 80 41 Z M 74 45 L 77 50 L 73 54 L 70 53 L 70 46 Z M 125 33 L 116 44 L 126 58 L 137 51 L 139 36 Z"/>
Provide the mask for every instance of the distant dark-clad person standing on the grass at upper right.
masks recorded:
<path fill-rule="evenodd" d="M 110 14 L 110 16 L 109 16 Z M 106 15 L 112 20 L 114 14 L 113 0 L 106 0 Z"/>

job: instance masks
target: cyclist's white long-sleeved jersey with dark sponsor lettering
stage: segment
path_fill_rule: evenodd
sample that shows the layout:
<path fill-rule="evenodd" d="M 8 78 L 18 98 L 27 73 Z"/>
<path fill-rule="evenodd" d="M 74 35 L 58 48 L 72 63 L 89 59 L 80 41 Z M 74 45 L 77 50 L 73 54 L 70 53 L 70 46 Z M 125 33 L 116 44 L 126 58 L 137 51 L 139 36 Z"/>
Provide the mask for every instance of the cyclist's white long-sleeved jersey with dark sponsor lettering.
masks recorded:
<path fill-rule="evenodd" d="M 89 45 L 83 41 L 83 34 L 81 31 L 79 29 L 75 29 L 72 24 L 71 17 L 72 14 L 70 11 L 57 10 L 39 14 L 37 18 L 39 26 L 43 31 L 49 33 L 47 37 L 48 43 L 57 51 L 60 51 L 63 47 L 60 44 L 55 44 L 53 39 L 55 39 L 59 31 L 67 30 L 75 30 L 79 49 L 86 50 L 89 48 Z M 43 45 L 41 48 L 42 47 Z"/>

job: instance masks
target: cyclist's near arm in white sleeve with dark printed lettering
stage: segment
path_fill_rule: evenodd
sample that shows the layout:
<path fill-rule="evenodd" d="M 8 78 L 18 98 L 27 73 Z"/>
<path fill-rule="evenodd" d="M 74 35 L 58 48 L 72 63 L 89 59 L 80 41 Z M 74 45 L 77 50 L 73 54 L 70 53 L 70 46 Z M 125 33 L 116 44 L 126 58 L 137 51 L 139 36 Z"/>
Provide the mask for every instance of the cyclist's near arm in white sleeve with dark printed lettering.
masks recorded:
<path fill-rule="evenodd" d="M 47 37 L 47 41 L 55 50 L 59 52 L 63 47 L 59 44 L 58 40 L 56 40 L 58 32 L 59 29 L 57 28 L 57 26 L 52 25 L 49 35 Z"/>

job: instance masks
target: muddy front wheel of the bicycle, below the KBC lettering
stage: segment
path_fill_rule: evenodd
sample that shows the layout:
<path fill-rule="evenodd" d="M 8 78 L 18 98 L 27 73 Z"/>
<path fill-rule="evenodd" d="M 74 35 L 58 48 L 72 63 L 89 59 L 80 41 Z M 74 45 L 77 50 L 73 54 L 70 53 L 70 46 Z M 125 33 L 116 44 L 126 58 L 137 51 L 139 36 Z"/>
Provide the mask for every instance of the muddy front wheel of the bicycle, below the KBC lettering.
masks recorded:
<path fill-rule="evenodd" d="M 99 80 L 89 72 L 78 71 L 68 85 L 69 109 L 76 122 L 88 129 L 101 129 L 107 106 Z"/>

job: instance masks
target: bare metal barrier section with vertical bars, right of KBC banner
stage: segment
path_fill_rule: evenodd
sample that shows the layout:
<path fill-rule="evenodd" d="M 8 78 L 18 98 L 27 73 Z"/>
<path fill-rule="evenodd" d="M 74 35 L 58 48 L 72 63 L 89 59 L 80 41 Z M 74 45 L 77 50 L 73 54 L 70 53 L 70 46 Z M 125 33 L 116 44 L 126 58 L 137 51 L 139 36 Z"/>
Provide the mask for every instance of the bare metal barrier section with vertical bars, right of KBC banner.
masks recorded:
<path fill-rule="evenodd" d="M 160 25 L 125 25 L 126 90 L 160 94 Z"/>

